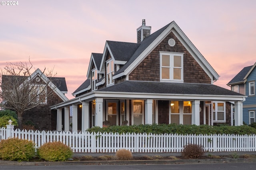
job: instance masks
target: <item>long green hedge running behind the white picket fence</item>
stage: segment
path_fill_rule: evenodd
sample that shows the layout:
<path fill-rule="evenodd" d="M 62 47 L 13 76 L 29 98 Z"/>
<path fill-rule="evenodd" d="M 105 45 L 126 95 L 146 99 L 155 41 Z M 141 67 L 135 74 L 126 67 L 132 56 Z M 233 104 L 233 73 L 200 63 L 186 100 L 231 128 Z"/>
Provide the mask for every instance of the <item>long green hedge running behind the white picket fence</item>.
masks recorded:
<path fill-rule="evenodd" d="M 92 133 L 152 133 L 152 134 L 194 134 L 194 135 L 210 135 L 210 134 L 234 134 L 234 135 L 251 135 L 256 134 L 256 129 L 241 126 L 209 126 L 209 125 L 176 125 L 176 124 L 152 124 L 152 125 L 132 125 L 132 126 L 109 126 L 109 127 L 92 127 L 87 129 Z"/>

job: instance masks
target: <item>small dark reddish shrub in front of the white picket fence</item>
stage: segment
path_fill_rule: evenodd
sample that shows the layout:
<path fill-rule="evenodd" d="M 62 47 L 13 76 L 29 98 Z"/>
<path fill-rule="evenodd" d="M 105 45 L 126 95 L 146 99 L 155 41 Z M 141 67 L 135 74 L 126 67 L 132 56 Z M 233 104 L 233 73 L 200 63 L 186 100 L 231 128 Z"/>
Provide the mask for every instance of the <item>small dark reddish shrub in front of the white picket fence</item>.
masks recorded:
<path fill-rule="evenodd" d="M 182 156 L 185 158 L 198 158 L 204 154 L 204 147 L 202 145 L 188 144 L 182 150 Z"/>

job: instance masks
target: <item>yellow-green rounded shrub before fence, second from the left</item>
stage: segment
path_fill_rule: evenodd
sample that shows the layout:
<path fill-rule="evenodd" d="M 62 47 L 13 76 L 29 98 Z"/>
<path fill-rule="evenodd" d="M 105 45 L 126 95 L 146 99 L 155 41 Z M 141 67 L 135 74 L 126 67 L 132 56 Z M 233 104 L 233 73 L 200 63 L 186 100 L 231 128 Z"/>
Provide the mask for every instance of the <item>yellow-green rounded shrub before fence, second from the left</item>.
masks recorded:
<path fill-rule="evenodd" d="M 72 154 L 70 147 L 61 142 L 45 143 L 38 149 L 38 156 L 47 161 L 65 161 Z"/>

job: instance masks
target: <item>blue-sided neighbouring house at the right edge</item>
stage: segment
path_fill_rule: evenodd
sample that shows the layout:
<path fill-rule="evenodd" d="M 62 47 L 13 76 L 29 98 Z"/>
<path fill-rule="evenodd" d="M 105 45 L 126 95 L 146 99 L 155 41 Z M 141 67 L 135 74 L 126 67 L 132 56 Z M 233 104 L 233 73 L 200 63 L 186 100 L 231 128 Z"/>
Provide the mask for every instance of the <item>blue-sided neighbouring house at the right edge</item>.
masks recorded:
<path fill-rule="evenodd" d="M 256 81 L 256 63 L 252 66 L 244 67 L 230 82 L 228 86 L 231 90 L 240 94 L 246 95 L 246 100 L 243 102 L 243 121 L 247 124 L 255 122 L 256 111 L 256 96 L 255 96 L 255 81 Z"/>

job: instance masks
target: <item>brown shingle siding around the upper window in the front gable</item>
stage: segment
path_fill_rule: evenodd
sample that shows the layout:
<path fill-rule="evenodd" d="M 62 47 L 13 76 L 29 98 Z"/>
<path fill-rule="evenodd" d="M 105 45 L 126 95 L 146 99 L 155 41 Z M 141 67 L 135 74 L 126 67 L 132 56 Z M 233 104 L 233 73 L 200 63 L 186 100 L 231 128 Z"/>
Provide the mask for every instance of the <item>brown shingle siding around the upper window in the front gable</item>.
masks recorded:
<path fill-rule="evenodd" d="M 168 40 L 176 41 L 174 47 L 168 45 Z M 160 81 L 160 54 L 159 51 L 184 53 L 184 82 L 211 83 L 210 77 L 190 55 L 182 43 L 171 32 L 129 75 L 129 80 Z"/>

